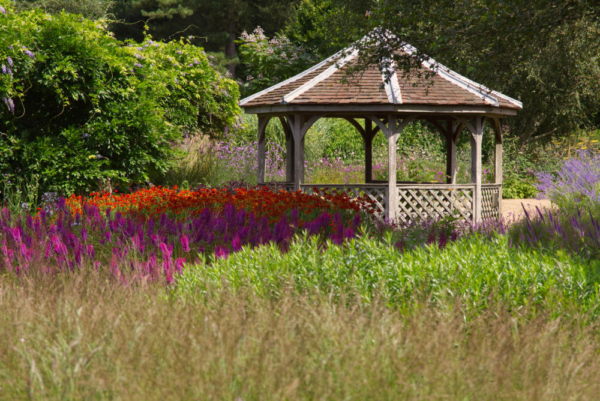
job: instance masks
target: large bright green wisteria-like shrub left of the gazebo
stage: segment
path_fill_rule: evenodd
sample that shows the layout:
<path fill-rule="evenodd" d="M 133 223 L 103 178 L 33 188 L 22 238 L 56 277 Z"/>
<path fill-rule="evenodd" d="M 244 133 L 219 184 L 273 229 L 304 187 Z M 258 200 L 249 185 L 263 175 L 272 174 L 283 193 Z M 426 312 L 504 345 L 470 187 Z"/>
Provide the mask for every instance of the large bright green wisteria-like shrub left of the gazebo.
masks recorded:
<path fill-rule="evenodd" d="M 183 132 L 216 135 L 235 122 L 237 85 L 201 48 L 134 46 L 103 21 L 2 4 L 0 64 L 11 69 L 0 75 L 3 173 L 37 174 L 43 191 L 64 194 L 143 181 L 167 170 Z"/>

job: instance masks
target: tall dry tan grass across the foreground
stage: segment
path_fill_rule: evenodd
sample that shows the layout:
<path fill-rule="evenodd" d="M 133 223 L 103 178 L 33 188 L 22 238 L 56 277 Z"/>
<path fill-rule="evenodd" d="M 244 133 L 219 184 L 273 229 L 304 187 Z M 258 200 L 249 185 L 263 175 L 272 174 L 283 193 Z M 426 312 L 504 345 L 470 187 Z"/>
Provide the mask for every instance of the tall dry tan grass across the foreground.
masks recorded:
<path fill-rule="evenodd" d="M 0 277 L 0 398 L 595 399 L 600 342 L 576 320 L 326 298 L 206 302 L 104 277 Z"/>

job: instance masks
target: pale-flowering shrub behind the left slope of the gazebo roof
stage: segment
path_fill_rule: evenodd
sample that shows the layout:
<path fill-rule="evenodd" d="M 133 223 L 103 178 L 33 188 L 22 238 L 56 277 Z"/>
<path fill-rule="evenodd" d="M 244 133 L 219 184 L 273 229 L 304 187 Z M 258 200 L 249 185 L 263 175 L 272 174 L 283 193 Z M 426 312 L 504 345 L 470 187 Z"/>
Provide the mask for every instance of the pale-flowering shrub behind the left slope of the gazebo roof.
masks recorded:
<path fill-rule="evenodd" d="M 238 43 L 248 73 L 242 88 L 248 95 L 291 78 L 319 61 L 283 35 L 269 39 L 261 27 L 251 34 L 244 31 Z"/>

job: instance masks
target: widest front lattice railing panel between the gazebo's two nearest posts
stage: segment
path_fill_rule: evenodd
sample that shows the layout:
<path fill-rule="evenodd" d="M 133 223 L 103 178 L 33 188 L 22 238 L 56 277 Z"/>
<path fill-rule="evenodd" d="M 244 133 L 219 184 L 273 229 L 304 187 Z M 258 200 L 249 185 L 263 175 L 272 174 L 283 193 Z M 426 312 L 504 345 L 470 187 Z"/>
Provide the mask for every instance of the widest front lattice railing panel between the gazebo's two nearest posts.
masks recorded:
<path fill-rule="evenodd" d="M 473 190 L 471 188 L 398 188 L 399 218 L 439 219 L 456 215 L 473 219 Z"/>

